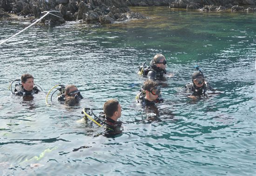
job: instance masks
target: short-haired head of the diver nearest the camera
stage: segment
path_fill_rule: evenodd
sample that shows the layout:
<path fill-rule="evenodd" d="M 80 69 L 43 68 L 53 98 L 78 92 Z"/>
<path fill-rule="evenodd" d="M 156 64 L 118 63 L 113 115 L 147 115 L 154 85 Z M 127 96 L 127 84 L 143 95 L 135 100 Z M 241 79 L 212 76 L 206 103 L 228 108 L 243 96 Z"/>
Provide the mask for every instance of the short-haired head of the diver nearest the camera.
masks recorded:
<path fill-rule="evenodd" d="M 103 106 L 103 111 L 106 117 L 112 118 L 115 121 L 121 117 L 121 105 L 116 99 L 106 101 Z"/>

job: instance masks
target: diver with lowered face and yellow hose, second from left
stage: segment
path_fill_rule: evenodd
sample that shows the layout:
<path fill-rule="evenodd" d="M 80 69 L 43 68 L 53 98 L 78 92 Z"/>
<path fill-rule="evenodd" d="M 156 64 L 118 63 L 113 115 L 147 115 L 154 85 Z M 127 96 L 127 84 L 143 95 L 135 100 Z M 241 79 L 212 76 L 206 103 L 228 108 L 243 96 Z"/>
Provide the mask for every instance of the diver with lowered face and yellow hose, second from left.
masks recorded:
<path fill-rule="evenodd" d="M 83 98 L 75 85 L 66 85 L 65 87 L 62 85 L 58 90 L 60 91 L 58 100 L 64 101 L 69 106 L 78 104 L 79 100 Z"/>

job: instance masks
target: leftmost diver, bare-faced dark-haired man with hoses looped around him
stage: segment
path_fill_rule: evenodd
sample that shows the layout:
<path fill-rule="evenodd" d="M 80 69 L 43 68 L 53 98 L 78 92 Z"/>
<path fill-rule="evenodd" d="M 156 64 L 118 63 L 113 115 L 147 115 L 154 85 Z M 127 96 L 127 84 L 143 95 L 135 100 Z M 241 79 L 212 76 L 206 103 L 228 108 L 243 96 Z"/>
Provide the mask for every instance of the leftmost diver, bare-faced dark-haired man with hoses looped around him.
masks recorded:
<path fill-rule="evenodd" d="M 21 81 L 21 84 L 19 83 L 15 85 L 15 89 L 13 93 L 12 84 L 14 81 Z M 30 96 L 32 94 L 40 92 L 40 90 L 36 86 L 34 86 L 35 85 L 34 77 L 31 74 L 23 74 L 20 79 L 15 79 L 14 81 L 11 83 L 10 87 L 11 87 L 12 93 L 15 95 Z"/>

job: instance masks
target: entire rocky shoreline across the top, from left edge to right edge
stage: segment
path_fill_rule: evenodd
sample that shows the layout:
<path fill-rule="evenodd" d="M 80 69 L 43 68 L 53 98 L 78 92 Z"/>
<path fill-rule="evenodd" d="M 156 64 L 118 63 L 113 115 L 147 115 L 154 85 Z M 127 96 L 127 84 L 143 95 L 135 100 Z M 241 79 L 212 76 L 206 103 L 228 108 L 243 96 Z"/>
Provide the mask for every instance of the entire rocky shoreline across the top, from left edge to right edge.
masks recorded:
<path fill-rule="evenodd" d="M 58 26 L 66 21 L 88 24 L 110 24 L 128 19 L 146 19 L 129 7 L 183 8 L 202 12 L 245 11 L 256 12 L 256 0 L 0 0 L 0 18 L 12 18 L 10 14 L 39 19 L 44 11 L 58 11 L 40 20 L 47 26 Z M 250 6 L 245 8 L 244 6 Z M 253 7 L 253 8 L 252 8 Z"/>

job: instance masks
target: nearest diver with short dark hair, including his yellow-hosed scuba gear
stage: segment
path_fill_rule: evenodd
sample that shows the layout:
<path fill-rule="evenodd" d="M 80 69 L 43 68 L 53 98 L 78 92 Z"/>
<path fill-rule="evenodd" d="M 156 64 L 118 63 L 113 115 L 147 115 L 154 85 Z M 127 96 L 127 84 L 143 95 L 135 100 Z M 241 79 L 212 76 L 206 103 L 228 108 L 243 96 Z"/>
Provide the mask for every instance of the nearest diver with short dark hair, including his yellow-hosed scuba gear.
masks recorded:
<path fill-rule="evenodd" d="M 121 121 L 117 121 L 118 118 L 121 117 L 121 105 L 116 99 L 110 99 L 104 103 L 103 111 L 100 112 L 99 117 L 97 117 L 92 108 L 84 108 L 82 114 L 84 114 L 85 120 L 90 119 L 92 122 L 97 124 L 98 126 L 105 127 L 104 136 L 113 137 L 122 132 L 121 130 Z M 102 109 L 100 109 L 102 110 Z M 90 117 L 90 115 L 94 115 L 94 119 Z"/>

